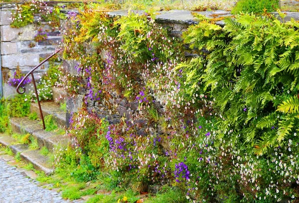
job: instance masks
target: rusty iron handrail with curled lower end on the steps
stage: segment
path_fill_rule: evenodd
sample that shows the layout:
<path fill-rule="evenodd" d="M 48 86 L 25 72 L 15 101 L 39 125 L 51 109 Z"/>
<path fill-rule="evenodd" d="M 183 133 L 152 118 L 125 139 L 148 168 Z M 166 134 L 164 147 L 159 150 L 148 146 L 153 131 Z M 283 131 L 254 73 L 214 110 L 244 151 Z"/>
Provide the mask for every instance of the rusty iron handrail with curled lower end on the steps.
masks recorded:
<path fill-rule="evenodd" d="M 25 77 L 19 82 L 19 84 L 17 85 L 16 87 L 16 92 L 19 93 L 19 94 L 24 94 L 25 91 L 26 91 L 26 87 L 25 86 L 21 86 L 22 83 L 26 80 L 26 78 L 31 75 L 32 77 L 32 83 L 33 83 L 33 86 L 34 86 L 34 90 L 35 90 L 35 95 L 36 95 L 36 99 L 37 99 L 37 103 L 38 103 L 38 108 L 39 108 L 39 113 L 40 113 L 40 117 L 41 117 L 41 120 L 42 120 L 42 126 L 43 126 L 43 129 L 45 130 L 46 129 L 46 126 L 45 126 L 45 121 L 44 121 L 44 118 L 43 118 L 43 114 L 42 114 L 42 110 L 41 110 L 41 106 L 40 106 L 40 101 L 39 101 L 39 97 L 38 97 L 38 92 L 37 92 L 37 88 L 36 88 L 36 84 L 35 84 L 35 80 L 34 80 L 34 76 L 33 76 L 33 71 L 35 69 L 37 69 L 39 66 L 41 66 L 42 64 L 44 64 L 46 61 L 48 61 L 50 58 L 52 58 L 54 55 L 56 55 L 59 51 L 61 51 L 61 49 L 58 49 L 57 51 L 55 51 L 52 55 L 48 56 L 45 60 L 43 60 L 42 62 L 40 62 L 37 66 L 35 66 L 32 70 L 30 70 L 26 75 Z M 22 88 L 23 91 L 20 92 L 19 91 L 19 88 Z"/>

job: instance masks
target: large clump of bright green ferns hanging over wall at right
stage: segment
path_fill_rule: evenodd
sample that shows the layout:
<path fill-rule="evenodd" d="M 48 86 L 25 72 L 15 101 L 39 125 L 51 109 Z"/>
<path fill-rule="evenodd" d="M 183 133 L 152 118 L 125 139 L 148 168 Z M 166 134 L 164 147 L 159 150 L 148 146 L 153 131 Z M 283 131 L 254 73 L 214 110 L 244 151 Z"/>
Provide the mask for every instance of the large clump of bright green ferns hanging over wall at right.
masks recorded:
<path fill-rule="evenodd" d="M 185 42 L 210 53 L 177 69 L 184 71 L 188 95 L 209 91 L 215 99 L 214 108 L 225 118 L 219 123 L 222 139 L 225 129 L 233 128 L 240 142 L 247 143 L 244 148 L 265 154 L 270 147 L 282 146 L 298 124 L 297 117 L 274 113 L 298 113 L 298 23 L 251 14 L 225 21 L 223 29 L 208 20 L 191 26 Z M 284 101 L 288 94 L 294 97 Z M 272 130 L 275 126 L 277 131 Z"/>

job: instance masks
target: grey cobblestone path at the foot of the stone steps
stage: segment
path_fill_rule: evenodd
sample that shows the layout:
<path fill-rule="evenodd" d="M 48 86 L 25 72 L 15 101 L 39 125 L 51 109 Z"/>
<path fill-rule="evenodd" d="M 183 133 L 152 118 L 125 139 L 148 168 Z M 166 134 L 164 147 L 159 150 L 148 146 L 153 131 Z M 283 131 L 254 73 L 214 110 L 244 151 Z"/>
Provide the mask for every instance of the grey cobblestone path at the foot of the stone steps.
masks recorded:
<path fill-rule="evenodd" d="M 0 159 L 0 203 L 70 203 L 37 183 Z"/>

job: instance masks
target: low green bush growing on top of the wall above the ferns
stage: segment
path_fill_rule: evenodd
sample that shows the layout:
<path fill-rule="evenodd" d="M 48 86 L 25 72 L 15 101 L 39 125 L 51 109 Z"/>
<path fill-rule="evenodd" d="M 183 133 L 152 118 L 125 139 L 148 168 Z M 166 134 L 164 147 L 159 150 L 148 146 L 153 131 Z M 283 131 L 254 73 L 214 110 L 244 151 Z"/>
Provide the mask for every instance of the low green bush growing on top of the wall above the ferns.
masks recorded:
<path fill-rule="evenodd" d="M 264 9 L 268 12 L 276 11 L 279 8 L 279 0 L 239 0 L 232 9 L 233 14 L 240 12 L 263 13 Z"/>

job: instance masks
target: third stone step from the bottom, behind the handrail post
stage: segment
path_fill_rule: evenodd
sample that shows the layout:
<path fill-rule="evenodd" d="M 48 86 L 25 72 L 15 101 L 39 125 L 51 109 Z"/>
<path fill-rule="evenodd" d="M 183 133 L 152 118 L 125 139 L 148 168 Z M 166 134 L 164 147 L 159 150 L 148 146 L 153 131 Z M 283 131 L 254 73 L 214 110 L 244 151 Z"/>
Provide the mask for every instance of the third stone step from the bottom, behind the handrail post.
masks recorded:
<path fill-rule="evenodd" d="M 40 102 L 43 116 L 52 115 L 54 121 L 60 128 L 65 128 L 66 125 L 66 113 L 60 109 L 60 105 L 55 102 Z M 31 103 L 30 112 L 35 112 L 40 117 L 39 108 L 37 103 Z"/>

